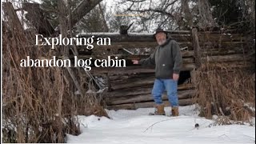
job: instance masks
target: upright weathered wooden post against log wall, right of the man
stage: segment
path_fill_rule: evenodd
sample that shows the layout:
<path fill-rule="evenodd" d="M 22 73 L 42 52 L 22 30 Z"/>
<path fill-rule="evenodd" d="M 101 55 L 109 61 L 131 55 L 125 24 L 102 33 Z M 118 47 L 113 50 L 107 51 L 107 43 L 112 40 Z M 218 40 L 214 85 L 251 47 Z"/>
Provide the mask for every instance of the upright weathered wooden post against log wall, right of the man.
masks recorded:
<path fill-rule="evenodd" d="M 196 28 L 192 29 L 192 38 L 193 38 L 193 46 L 194 46 L 195 64 L 198 68 L 201 66 L 201 54 L 200 54 L 200 43 L 198 39 L 198 30 Z"/>

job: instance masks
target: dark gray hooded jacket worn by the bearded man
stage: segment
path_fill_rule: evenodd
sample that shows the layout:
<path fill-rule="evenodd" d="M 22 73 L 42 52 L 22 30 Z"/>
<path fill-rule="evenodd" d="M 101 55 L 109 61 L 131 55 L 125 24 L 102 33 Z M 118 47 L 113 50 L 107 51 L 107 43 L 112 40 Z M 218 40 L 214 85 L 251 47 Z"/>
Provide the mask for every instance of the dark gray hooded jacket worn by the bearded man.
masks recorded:
<path fill-rule="evenodd" d="M 172 79 L 182 68 L 182 54 L 178 42 L 168 38 L 164 44 L 157 46 L 149 58 L 138 62 L 142 66 L 155 66 L 155 77 Z"/>

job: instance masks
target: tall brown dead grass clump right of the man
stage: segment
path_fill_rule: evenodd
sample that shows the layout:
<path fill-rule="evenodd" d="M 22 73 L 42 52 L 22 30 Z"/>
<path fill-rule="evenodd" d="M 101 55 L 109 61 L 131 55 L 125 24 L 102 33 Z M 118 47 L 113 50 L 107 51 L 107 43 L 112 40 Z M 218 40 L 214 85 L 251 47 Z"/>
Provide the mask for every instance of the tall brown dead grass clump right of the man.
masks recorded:
<path fill-rule="evenodd" d="M 226 120 L 250 122 L 255 116 L 254 72 L 229 69 L 227 66 L 203 64 L 195 72 L 196 97 L 201 116 L 212 118 L 214 114 Z M 223 123 L 223 122 L 222 122 Z"/>

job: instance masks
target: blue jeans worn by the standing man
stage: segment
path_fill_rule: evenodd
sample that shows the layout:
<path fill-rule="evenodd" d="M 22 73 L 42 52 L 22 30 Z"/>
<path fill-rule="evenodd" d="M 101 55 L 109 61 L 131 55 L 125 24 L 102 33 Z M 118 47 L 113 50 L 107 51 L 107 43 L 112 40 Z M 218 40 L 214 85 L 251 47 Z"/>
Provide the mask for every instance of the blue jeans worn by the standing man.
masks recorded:
<path fill-rule="evenodd" d="M 155 79 L 152 90 L 154 102 L 162 104 L 162 93 L 166 90 L 170 106 L 178 106 L 178 81 L 173 79 Z"/>

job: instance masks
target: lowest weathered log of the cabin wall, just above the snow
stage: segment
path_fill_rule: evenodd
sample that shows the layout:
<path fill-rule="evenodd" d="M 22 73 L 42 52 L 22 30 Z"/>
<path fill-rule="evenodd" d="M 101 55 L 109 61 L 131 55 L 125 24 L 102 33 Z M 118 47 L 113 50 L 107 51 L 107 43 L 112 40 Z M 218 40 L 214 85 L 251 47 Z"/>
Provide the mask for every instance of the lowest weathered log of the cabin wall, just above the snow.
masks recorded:
<path fill-rule="evenodd" d="M 189 106 L 193 104 L 193 100 L 191 98 L 188 99 L 180 99 L 179 106 Z M 168 101 L 163 101 L 165 106 L 170 106 Z M 129 104 L 121 104 L 121 105 L 113 105 L 106 106 L 108 110 L 136 110 L 138 108 L 146 108 L 146 107 L 154 107 L 154 102 L 140 102 L 140 103 L 129 103 Z"/>

